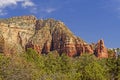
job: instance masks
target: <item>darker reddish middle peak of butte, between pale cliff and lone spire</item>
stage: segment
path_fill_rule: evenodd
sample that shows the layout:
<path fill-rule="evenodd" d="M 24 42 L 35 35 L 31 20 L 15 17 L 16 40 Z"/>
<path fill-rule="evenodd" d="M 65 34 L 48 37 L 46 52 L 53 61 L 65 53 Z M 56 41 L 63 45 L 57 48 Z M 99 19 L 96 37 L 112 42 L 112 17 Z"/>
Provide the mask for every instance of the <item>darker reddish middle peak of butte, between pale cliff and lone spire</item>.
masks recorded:
<path fill-rule="evenodd" d="M 38 53 L 47 54 L 50 51 L 57 50 L 60 55 L 66 53 L 70 57 L 85 52 L 93 53 L 86 42 L 74 36 L 62 22 L 53 19 L 37 20 L 35 35 L 26 45 L 28 48 L 31 46 L 31 42 Z M 84 50 L 80 50 L 81 48 Z"/>

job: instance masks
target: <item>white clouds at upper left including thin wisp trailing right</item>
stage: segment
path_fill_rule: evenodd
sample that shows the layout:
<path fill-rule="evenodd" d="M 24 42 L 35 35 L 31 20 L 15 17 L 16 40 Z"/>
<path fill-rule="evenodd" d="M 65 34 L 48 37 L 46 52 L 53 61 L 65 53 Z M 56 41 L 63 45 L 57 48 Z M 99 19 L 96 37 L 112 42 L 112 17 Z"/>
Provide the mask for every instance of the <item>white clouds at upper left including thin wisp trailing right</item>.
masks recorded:
<path fill-rule="evenodd" d="M 52 13 L 56 8 L 37 6 L 32 0 L 0 0 L 0 16 L 8 13 L 7 8 L 15 9 L 17 6 L 29 10 L 30 13 L 36 14 L 38 12 Z"/>

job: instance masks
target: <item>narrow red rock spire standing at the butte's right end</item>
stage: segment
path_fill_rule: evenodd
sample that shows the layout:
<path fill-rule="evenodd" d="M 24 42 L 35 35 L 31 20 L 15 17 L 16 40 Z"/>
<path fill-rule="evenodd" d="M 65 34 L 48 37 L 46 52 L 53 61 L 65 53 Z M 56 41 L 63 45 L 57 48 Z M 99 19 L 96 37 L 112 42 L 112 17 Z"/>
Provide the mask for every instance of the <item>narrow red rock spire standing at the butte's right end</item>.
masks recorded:
<path fill-rule="evenodd" d="M 95 55 L 98 58 L 108 58 L 108 51 L 107 48 L 104 45 L 104 41 L 103 40 L 99 40 L 96 48 L 95 48 Z"/>

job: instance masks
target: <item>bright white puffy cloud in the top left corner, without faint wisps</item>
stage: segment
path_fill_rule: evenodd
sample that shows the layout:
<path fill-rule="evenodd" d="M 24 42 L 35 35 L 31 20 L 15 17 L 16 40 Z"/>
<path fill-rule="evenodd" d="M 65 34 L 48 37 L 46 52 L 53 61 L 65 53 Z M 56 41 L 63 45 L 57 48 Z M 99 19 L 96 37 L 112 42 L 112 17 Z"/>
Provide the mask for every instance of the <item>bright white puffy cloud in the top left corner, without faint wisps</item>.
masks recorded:
<path fill-rule="evenodd" d="M 17 6 L 18 4 L 23 8 L 35 7 L 34 2 L 31 0 L 0 0 L 0 15 L 7 14 L 7 12 L 4 11 L 7 7 Z"/>

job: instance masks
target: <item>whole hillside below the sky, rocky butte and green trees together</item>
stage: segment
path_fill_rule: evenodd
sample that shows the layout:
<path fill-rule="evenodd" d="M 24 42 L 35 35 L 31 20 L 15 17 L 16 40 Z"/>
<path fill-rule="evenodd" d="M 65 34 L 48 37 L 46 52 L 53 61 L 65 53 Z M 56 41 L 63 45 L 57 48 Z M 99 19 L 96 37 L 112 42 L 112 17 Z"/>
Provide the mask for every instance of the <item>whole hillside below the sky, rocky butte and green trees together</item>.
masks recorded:
<path fill-rule="evenodd" d="M 54 19 L 0 19 L 0 80 L 120 80 L 120 56 Z"/>

